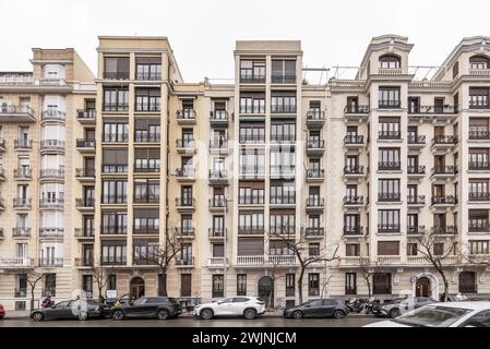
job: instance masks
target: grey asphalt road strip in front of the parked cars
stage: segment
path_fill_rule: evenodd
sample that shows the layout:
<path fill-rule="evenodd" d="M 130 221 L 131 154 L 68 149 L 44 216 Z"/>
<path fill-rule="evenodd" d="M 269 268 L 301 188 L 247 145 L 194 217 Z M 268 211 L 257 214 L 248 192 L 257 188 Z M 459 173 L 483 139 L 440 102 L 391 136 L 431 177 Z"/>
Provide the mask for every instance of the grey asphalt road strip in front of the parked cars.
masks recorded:
<path fill-rule="evenodd" d="M 81 321 L 44 321 L 36 323 L 28 318 L 4 318 L 0 327 L 360 327 L 382 318 L 366 316 L 347 316 L 343 320 L 334 318 L 303 318 L 288 320 L 282 317 L 215 318 L 210 321 L 181 316 L 177 320 L 89 320 Z"/>

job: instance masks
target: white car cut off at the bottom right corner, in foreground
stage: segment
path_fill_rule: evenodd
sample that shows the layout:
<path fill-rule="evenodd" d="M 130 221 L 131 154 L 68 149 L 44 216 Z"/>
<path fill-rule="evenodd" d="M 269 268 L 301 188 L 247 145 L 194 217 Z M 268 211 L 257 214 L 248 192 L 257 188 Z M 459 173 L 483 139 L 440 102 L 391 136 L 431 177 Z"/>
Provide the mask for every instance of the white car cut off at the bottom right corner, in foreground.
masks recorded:
<path fill-rule="evenodd" d="M 490 302 L 445 302 L 363 327 L 490 327 Z"/>

